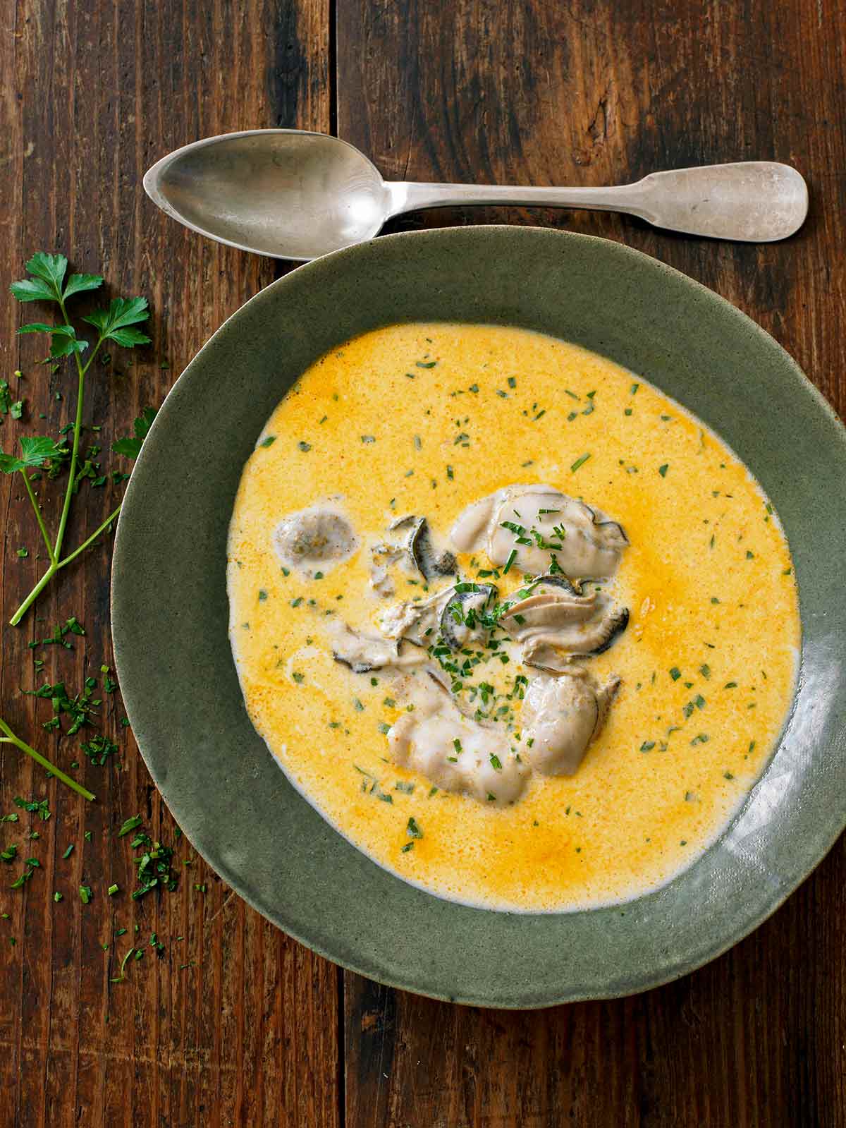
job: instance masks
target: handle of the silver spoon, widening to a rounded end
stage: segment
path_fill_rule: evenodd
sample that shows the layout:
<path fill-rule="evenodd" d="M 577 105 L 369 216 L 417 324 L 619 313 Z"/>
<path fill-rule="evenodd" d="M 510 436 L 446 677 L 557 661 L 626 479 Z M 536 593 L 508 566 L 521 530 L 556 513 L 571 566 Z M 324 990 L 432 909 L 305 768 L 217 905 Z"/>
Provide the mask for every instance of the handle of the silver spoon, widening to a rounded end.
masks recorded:
<path fill-rule="evenodd" d="M 447 204 L 583 208 L 637 215 L 656 227 L 721 239 L 768 243 L 793 235 L 808 213 L 808 187 L 788 165 L 738 161 L 653 173 L 608 188 L 504 187 L 477 184 L 386 185 L 389 214 Z"/>

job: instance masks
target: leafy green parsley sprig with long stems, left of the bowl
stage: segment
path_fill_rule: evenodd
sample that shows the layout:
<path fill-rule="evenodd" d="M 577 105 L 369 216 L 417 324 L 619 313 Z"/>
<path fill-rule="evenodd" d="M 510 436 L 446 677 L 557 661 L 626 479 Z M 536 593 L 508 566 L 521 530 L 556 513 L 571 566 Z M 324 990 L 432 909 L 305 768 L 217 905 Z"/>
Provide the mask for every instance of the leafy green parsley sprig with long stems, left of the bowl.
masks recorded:
<path fill-rule="evenodd" d="M 27 435 L 20 439 L 20 453 L 0 452 L 0 472 L 5 474 L 20 474 L 26 486 L 26 492 L 38 522 L 38 529 L 44 538 L 50 564 L 26 599 L 18 607 L 17 611 L 9 620 L 11 626 L 17 626 L 35 602 L 44 588 L 50 583 L 60 569 L 65 567 L 76 559 L 80 553 L 85 552 L 100 534 L 108 529 L 117 517 L 121 506 L 111 513 L 106 520 L 97 528 L 82 544 L 67 556 L 62 556 L 64 534 L 68 527 L 71 499 L 77 484 L 77 469 L 79 461 L 80 434 L 82 431 L 82 409 L 85 404 L 85 378 L 91 367 L 100 346 L 106 341 L 112 341 L 125 349 L 135 345 L 148 344 L 150 338 L 142 333 L 136 325 L 146 321 L 149 317 L 147 298 L 113 298 L 108 309 L 95 309 L 81 318 L 87 325 L 96 331 L 96 342 L 87 360 L 82 356 L 89 347 L 88 341 L 77 335 L 76 327 L 68 317 L 67 302 L 73 294 L 88 290 L 97 290 L 103 285 L 103 277 L 99 274 L 71 274 L 67 277 L 68 259 L 64 255 L 50 255 L 43 250 L 37 252 L 26 264 L 29 276 L 20 282 L 12 282 L 11 292 L 21 302 L 44 301 L 59 307 L 60 321 L 58 325 L 47 325 L 45 321 L 32 321 L 21 325 L 18 333 L 46 333 L 50 335 L 50 359 L 61 360 L 63 356 L 73 356 L 77 367 L 77 409 L 73 421 L 73 439 L 70 452 L 70 464 L 68 473 L 68 485 L 64 492 L 59 528 L 55 537 L 47 532 L 38 503 L 33 492 L 30 470 L 41 469 L 47 464 L 59 462 L 65 455 L 64 448 L 55 440 L 46 435 Z M 149 408 L 148 408 L 149 412 Z M 135 438 L 142 440 L 149 430 L 151 416 L 144 413 L 142 420 L 135 422 Z M 115 444 L 118 453 L 135 457 L 140 449 L 134 448 L 133 440 L 121 440 Z"/>

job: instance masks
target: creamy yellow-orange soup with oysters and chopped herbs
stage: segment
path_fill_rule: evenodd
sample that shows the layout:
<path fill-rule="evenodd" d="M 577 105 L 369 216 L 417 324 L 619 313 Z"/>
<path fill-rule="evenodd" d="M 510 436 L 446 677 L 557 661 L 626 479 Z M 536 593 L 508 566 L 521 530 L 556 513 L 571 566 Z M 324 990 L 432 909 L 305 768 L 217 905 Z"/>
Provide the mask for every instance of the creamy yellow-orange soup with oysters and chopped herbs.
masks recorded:
<path fill-rule="evenodd" d="M 749 470 L 641 374 L 521 329 L 390 326 L 314 364 L 245 467 L 228 587 L 292 783 L 488 908 L 666 882 L 793 698 L 791 557 Z"/>

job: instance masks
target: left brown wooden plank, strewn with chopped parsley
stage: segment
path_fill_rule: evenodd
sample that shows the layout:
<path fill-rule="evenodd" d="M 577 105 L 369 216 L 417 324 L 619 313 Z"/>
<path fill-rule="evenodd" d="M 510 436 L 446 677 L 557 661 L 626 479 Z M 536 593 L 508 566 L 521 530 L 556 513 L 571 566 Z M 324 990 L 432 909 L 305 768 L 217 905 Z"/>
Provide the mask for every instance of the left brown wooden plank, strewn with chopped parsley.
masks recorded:
<path fill-rule="evenodd" d="M 167 220 L 147 201 L 141 176 L 199 136 L 261 125 L 328 129 L 327 9 L 318 0 L 11 2 L 0 34 L 0 292 L 43 248 L 64 250 L 76 268 L 102 271 L 114 292 L 150 299 L 153 345 L 134 359 L 115 350 L 89 380 L 86 421 L 103 424 L 96 441 L 108 450 L 141 407 L 161 402 L 212 331 L 274 276 L 272 263 Z M 25 420 L 7 417 L 0 428 L 7 450 L 17 433 L 68 422 L 73 398 L 68 372 L 36 365 L 43 344 L 15 337 L 19 316 L 16 302 L 0 303 L 2 377 L 14 384 L 9 373 L 20 368 L 27 400 Z M 107 456 L 104 465 L 129 469 L 121 461 Z M 43 492 L 53 523 L 61 485 Z M 121 488 L 82 485 L 68 544 L 105 518 Z M 3 623 L 43 566 L 20 494 L 17 483 L 0 483 Z M 29 549 L 24 559 L 20 546 Z M 76 690 L 112 662 L 109 558 L 106 540 L 62 573 L 35 616 L 2 631 L 3 716 L 62 766 L 82 761 L 79 774 L 98 802 L 78 801 L 3 752 L 0 813 L 15 809 L 15 795 L 46 795 L 53 817 L 27 814 L 2 828 L 42 870 L 23 890 L 0 892 L 9 914 L 0 920 L 0 1123 L 335 1126 L 336 970 L 233 896 L 185 838 L 177 844 L 179 890 L 131 901 L 130 839 L 115 830 L 136 812 L 166 844 L 176 843 L 176 829 L 120 724 L 120 699 L 104 695 L 102 724 L 120 744 L 120 764 L 96 768 L 77 740 L 41 730 L 49 702 L 20 694 L 44 678 Z M 69 615 L 87 631 L 72 651 L 28 650 Z M 34 654 L 46 659 L 43 676 L 34 673 Z M 30 826 L 41 834 L 32 845 L 24 838 Z M 70 843 L 76 849 L 63 860 Z M 193 864 L 183 867 L 183 860 Z M 121 892 L 109 898 L 113 882 Z M 88 906 L 80 883 L 95 891 Z M 115 937 L 118 927 L 129 931 Z M 161 960 L 148 946 L 153 932 L 166 944 Z M 143 958 L 114 984 L 131 945 Z"/>

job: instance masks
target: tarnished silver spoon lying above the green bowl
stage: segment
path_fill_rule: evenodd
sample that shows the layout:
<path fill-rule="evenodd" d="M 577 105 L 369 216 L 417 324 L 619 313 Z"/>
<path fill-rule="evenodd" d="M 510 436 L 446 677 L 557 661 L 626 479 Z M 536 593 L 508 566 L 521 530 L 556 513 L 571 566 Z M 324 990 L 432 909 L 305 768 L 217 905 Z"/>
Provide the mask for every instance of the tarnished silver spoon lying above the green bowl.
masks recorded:
<path fill-rule="evenodd" d="M 301 130 L 195 141 L 157 161 L 144 188 L 201 235 L 297 262 L 372 239 L 391 215 L 443 204 L 628 212 L 671 231 L 743 243 L 785 239 L 808 214 L 802 176 L 768 160 L 653 173 L 613 188 L 386 183 L 346 141 Z"/>

